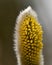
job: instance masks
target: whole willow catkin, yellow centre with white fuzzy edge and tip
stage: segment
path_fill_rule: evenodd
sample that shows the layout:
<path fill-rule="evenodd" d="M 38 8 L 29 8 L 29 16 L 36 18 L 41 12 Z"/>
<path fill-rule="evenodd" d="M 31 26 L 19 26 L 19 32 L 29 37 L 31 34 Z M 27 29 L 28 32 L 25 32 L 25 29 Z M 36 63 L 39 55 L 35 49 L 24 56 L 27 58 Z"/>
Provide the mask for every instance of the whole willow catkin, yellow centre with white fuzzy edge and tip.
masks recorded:
<path fill-rule="evenodd" d="M 42 26 L 31 7 L 16 20 L 15 52 L 18 65 L 44 65 L 42 55 Z"/>

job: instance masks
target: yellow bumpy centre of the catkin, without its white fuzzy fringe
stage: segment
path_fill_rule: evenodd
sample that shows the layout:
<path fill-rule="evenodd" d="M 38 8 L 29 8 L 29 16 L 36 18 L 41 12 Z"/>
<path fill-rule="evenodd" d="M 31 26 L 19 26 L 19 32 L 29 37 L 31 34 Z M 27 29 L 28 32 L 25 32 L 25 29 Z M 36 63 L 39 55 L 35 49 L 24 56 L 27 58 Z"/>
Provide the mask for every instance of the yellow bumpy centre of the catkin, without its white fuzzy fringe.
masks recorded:
<path fill-rule="evenodd" d="M 19 50 L 22 65 L 39 65 L 42 44 L 42 27 L 36 18 L 26 15 L 19 28 Z"/>

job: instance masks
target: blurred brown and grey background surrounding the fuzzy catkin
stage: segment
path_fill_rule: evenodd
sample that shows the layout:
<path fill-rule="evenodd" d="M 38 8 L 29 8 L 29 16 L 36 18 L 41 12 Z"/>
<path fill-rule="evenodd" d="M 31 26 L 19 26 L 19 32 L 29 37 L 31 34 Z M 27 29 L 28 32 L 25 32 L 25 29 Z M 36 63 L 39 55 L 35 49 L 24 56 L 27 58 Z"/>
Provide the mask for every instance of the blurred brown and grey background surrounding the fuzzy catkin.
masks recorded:
<path fill-rule="evenodd" d="M 17 65 L 13 34 L 19 12 L 31 6 L 43 27 L 44 62 L 52 65 L 52 0 L 0 0 L 0 65 Z"/>

